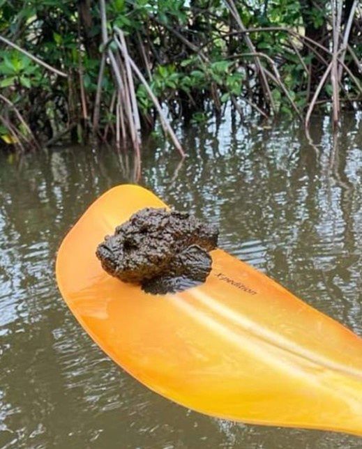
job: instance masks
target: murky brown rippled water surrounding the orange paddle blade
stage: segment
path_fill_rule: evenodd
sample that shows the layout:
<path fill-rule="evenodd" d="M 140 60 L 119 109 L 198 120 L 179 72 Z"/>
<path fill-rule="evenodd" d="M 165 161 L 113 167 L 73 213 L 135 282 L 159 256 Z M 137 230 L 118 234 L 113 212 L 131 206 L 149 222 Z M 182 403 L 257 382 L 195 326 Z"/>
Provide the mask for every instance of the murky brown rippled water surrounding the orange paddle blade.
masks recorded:
<path fill-rule="evenodd" d="M 333 144 L 298 125 L 180 130 L 179 164 L 162 142 L 139 182 L 220 226 L 220 245 L 362 335 L 362 114 Z M 63 303 L 54 280 L 62 236 L 84 208 L 134 180 L 107 149 L 0 155 L 0 448 L 361 448 L 333 432 L 230 423 L 189 411 L 110 361 Z"/>

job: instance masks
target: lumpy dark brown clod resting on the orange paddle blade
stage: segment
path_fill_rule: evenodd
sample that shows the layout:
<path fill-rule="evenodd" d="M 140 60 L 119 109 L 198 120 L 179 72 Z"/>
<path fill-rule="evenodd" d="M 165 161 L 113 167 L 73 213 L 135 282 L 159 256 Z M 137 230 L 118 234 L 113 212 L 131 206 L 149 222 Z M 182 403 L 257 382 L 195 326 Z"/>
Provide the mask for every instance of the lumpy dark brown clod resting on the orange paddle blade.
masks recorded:
<path fill-rule="evenodd" d="M 110 275 L 167 294 L 205 282 L 217 243 L 218 229 L 190 213 L 144 208 L 106 236 L 96 255 Z"/>

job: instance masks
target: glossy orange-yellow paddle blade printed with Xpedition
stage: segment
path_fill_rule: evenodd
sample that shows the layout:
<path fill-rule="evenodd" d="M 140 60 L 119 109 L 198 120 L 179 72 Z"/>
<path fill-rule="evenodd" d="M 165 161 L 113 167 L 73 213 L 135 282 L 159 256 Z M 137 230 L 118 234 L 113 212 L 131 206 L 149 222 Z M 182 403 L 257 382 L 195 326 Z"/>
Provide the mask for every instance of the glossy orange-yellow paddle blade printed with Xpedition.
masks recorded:
<path fill-rule="evenodd" d="M 145 386 L 196 411 L 244 423 L 362 435 L 362 339 L 223 250 L 206 282 L 153 296 L 107 275 L 106 234 L 152 192 L 119 185 L 59 248 L 63 298 L 93 340 Z"/>

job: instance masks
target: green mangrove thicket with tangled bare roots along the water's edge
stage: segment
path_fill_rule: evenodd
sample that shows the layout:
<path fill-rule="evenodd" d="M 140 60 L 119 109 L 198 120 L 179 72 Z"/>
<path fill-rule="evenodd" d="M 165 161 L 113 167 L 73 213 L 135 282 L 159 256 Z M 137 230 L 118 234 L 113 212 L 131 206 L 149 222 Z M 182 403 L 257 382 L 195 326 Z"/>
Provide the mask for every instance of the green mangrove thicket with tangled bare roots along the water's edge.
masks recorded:
<path fill-rule="evenodd" d="M 26 151 L 223 114 L 361 105 L 362 10 L 324 0 L 0 0 L 0 142 Z"/>

